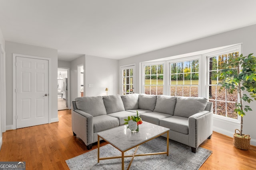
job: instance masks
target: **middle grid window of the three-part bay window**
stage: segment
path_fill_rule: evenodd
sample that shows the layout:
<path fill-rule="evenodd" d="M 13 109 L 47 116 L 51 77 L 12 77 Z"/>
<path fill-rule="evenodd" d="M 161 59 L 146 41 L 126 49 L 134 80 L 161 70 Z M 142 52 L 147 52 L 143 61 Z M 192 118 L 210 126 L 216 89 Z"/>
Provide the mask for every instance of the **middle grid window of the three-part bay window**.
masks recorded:
<path fill-rule="evenodd" d="M 170 96 L 198 97 L 199 61 L 170 63 Z"/>

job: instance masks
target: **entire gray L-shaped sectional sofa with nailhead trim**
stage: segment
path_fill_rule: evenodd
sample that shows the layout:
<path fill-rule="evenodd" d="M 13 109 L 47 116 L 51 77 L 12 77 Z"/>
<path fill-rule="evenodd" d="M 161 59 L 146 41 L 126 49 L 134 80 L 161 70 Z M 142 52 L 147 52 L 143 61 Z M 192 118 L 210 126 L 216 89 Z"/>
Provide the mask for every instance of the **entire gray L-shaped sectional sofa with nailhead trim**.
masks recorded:
<path fill-rule="evenodd" d="M 98 132 L 124 125 L 124 119 L 136 115 L 136 111 L 142 121 L 169 128 L 169 138 L 190 146 L 192 152 L 211 138 L 212 102 L 206 98 L 147 94 L 76 98 L 72 131 L 89 150 L 98 140 Z"/>

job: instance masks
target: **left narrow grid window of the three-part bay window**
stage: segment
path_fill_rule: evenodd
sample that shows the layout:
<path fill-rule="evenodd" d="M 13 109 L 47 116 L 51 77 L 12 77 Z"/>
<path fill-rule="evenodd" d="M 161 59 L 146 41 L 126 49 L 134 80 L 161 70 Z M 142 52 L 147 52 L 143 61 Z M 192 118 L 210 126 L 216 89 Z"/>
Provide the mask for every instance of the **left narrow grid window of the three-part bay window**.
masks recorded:
<path fill-rule="evenodd" d="M 164 64 L 144 65 L 144 93 L 164 94 Z"/>

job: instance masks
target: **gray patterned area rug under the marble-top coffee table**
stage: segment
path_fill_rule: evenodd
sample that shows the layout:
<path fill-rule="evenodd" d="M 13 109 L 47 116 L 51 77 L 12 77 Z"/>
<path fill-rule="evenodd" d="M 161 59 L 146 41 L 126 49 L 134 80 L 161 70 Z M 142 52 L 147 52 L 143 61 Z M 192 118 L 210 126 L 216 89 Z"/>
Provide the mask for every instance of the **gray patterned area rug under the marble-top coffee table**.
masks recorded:
<path fill-rule="evenodd" d="M 125 155 L 131 155 L 135 149 L 128 150 Z M 158 137 L 139 146 L 137 154 L 166 152 L 166 138 Z M 191 147 L 169 140 L 169 156 L 166 154 L 136 156 L 130 170 L 198 170 L 211 155 L 212 151 L 198 147 L 196 153 Z M 66 160 L 70 170 L 120 170 L 121 158 L 97 161 L 98 149 L 86 152 Z M 121 156 L 121 152 L 112 145 L 100 147 L 100 158 Z M 124 158 L 124 168 L 127 169 L 131 157 Z"/>

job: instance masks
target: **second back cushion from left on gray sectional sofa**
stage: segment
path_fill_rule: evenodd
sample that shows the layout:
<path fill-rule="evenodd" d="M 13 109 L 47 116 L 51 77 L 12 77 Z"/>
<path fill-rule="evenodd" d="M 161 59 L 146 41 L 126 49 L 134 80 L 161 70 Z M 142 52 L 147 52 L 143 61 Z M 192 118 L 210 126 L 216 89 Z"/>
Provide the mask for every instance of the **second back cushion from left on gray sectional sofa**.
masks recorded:
<path fill-rule="evenodd" d="M 103 96 L 104 105 L 106 107 L 107 113 L 114 113 L 118 111 L 124 111 L 124 104 L 121 99 L 121 96 L 118 95 L 110 95 Z"/>

